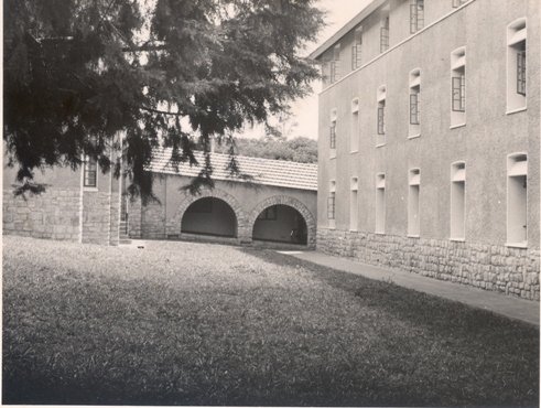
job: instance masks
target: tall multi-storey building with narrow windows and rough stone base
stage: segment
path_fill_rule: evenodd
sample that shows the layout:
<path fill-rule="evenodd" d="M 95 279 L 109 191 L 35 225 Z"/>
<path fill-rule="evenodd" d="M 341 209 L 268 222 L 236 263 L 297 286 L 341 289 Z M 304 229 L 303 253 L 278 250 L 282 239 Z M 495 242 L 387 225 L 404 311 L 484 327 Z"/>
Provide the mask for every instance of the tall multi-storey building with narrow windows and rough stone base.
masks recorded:
<path fill-rule="evenodd" d="M 312 53 L 317 246 L 539 300 L 539 0 L 374 0 Z"/>

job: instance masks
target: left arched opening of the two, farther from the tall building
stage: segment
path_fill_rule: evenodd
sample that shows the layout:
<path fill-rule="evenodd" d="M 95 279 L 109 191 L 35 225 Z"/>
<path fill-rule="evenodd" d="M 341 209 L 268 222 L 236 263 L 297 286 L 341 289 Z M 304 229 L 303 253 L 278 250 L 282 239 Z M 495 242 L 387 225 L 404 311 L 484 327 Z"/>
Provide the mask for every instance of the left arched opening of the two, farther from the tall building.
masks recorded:
<path fill-rule="evenodd" d="M 236 237 L 237 217 L 224 200 L 199 198 L 184 212 L 181 232 L 217 237 Z"/>

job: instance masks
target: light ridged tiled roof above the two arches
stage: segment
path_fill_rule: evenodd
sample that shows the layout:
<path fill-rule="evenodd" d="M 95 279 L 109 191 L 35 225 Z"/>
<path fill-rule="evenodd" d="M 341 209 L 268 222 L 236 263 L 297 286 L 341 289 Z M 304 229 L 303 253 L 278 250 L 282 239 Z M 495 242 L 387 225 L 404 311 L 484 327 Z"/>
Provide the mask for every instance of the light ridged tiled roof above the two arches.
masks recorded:
<path fill-rule="evenodd" d="M 199 165 L 191 167 L 188 163 L 181 163 L 178 164 L 178 172 L 176 172 L 169 162 L 170 158 L 170 149 L 154 151 L 152 163 L 147 170 L 155 173 L 196 176 L 205 162 L 203 152 L 197 151 L 195 152 L 195 158 Z M 236 155 L 236 160 L 240 172 L 252 176 L 251 182 L 253 183 L 289 189 L 317 190 L 317 164 L 249 158 L 246 155 Z M 214 169 L 213 179 L 245 182 L 242 179 L 231 176 L 227 171 L 228 154 L 212 153 L 210 163 Z"/>

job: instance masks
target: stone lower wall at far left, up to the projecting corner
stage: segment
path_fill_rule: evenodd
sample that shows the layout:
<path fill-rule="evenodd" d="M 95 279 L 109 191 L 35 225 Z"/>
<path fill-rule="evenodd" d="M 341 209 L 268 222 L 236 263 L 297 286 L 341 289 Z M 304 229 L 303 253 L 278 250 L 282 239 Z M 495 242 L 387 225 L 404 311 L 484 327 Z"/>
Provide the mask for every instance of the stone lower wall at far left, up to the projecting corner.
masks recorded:
<path fill-rule="evenodd" d="M 78 241 L 80 193 L 78 189 L 47 187 L 26 200 L 3 191 L 3 234 Z"/>

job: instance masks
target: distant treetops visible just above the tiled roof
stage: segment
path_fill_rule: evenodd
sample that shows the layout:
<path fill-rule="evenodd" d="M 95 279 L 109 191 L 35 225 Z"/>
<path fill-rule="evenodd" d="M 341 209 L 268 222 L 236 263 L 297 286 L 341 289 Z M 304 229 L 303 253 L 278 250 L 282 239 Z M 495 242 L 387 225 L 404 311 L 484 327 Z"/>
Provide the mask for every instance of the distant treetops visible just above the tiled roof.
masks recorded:
<path fill-rule="evenodd" d="M 216 151 L 225 153 L 228 147 L 217 146 Z M 251 158 L 317 163 L 317 142 L 297 137 L 291 140 L 266 137 L 260 139 L 237 138 L 235 153 Z"/>

